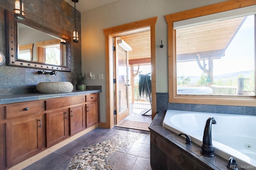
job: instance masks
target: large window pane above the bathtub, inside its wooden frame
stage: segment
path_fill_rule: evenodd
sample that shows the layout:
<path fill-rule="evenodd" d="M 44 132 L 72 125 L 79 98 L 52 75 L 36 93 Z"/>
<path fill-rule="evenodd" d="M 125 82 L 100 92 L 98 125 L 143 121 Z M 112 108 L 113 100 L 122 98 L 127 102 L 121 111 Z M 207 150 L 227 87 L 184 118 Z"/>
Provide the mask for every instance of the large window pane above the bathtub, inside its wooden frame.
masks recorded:
<path fill-rule="evenodd" d="M 255 95 L 254 15 L 176 29 L 177 94 Z"/>

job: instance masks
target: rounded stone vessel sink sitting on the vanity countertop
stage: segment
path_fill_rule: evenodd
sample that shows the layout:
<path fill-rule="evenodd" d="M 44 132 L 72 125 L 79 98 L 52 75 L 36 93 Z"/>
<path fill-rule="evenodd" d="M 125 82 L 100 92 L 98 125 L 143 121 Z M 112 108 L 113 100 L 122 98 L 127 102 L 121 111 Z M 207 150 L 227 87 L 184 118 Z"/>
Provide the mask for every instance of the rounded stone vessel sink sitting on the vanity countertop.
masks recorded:
<path fill-rule="evenodd" d="M 73 88 L 70 82 L 41 82 L 36 86 L 40 93 L 67 93 L 72 92 Z"/>

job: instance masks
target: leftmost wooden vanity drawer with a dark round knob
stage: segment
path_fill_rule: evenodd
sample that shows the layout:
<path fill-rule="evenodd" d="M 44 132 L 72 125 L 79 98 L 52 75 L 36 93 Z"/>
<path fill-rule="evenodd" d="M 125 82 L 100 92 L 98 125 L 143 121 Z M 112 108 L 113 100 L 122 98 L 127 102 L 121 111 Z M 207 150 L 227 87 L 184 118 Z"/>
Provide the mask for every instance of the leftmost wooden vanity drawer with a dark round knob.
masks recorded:
<path fill-rule="evenodd" d="M 38 113 L 41 111 L 41 102 L 24 102 L 5 106 L 6 119 Z"/>

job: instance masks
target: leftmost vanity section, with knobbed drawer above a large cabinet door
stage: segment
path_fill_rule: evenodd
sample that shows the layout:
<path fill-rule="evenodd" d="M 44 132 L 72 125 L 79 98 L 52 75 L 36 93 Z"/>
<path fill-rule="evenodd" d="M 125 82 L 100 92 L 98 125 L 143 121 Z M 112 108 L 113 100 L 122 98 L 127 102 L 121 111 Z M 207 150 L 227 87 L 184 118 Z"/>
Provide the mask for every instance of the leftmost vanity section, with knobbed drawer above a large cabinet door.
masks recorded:
<path fill-rule="evenodd" d="M 11 167 L 45 147 L 45 118 L 41 101 L 8 104 L 5 108 L 6 166 Z M 1 131 L 2 133 L 2 131 Z"/>

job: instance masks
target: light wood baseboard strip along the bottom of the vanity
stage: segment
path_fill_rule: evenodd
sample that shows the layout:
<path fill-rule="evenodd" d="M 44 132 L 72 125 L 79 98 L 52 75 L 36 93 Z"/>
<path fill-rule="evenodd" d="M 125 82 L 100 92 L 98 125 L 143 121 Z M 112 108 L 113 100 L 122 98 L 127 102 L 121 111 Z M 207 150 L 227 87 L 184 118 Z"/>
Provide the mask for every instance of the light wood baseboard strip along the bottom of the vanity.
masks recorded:
<path fill-rule="evenodd" d="M 68 139 L 65 139 L 64 141 L 61 141 L 60 143 L 24 160 L 23 162 L 20 162 L 14 166 L 12 166 L 11 168 L 9 168 L 8 170 L 22 170 L 23 168 L 26 168 L 28 165 L 40 160 L 41 158 L 43 158 L 44 156 L 47 156 L 48 154 L 54 152 L 55 150 L 60 149 L 61 147 L 63 147 L 64 145 L 74 141 L 75 139 L 81 137 L 82 135 L 85 135 L 86 133 L 92 131 L 93 129 L 95 129 L 96 127 L 98 127 L 98 124 L 93 125 L 91 127 L 89 127 L 88 129 L 85 129 L 84 131 L 77 133 L 76 135 L 73 135 L 71 137 L 69 137 Z"/>

